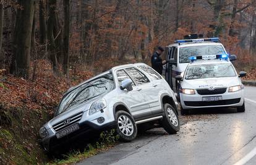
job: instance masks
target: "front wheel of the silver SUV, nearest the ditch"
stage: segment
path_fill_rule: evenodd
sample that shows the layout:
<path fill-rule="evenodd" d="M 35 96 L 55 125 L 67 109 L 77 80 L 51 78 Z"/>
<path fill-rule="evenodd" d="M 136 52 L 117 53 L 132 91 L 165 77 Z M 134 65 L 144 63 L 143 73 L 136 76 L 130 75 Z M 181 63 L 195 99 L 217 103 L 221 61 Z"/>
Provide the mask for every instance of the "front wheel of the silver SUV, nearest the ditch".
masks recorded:
<path fill-rule="evenodd" d="M 134 118 L 126 111 L 116 112 L 116 132 L 123 142 L 130 142 L 137 136 L 137 125 Z"/>

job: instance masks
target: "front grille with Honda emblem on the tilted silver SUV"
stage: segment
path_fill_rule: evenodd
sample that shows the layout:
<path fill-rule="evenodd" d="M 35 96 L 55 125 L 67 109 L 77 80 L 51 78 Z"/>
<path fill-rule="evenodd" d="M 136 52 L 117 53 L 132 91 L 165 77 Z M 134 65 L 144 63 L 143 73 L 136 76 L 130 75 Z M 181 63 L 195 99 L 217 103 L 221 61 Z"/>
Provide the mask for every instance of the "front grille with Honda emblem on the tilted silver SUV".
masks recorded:
<path fill-rule="evenodd" d="M 74 124 L 75 122 L 80 121 L 82 119 L 83 112 L 80 112 L 79 114 L 75 114 L 74 116 L 71 116 L 64 121 L 58 122 L 57 124 L 53 125 L 53 129 L 58 132 L 59 130 L 65 129 L 71 124 Z"/>

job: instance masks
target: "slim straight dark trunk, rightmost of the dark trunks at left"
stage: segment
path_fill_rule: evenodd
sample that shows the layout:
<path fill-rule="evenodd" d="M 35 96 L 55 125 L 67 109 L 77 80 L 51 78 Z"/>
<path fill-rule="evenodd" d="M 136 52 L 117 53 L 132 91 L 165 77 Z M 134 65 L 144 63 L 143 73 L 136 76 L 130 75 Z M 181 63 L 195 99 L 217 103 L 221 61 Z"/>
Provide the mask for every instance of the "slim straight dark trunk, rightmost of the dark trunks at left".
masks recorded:
<path fill-rule="evenodd" d="M 69 74 L 69 31 L 70 31 L 70 0 L 64 1 L 64 37 L 63 37 L 63 72 Z"/>

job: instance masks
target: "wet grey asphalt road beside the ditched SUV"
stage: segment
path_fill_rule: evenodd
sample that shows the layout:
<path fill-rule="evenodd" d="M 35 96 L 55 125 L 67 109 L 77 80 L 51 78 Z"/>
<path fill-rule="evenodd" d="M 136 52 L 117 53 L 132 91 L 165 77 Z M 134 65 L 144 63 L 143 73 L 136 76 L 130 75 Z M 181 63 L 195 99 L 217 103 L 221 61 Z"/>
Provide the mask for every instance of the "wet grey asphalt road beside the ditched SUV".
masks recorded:
<path fill-rule="evenodd" d="M 243 113 L 196 110 L 180 116 L 176 135 L 152 129 L 79 164 L 256 164 L 256 87 L 245 98 Z"/>

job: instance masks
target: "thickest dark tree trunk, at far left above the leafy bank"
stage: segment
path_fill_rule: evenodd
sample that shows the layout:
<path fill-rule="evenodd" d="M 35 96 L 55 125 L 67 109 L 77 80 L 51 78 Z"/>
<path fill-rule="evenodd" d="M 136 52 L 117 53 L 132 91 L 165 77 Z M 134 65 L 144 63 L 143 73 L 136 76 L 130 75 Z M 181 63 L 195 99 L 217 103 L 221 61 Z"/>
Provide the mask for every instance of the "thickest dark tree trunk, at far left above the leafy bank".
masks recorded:
<path fill-rule="evenodd" d="M 34 0 L 19 0 L 22 8 L 17 9 L 14 30 L 14 57 L 12 57 L 11 73 L 28 78 L 30 75 L 30 44 L 35 10 Z"/>

